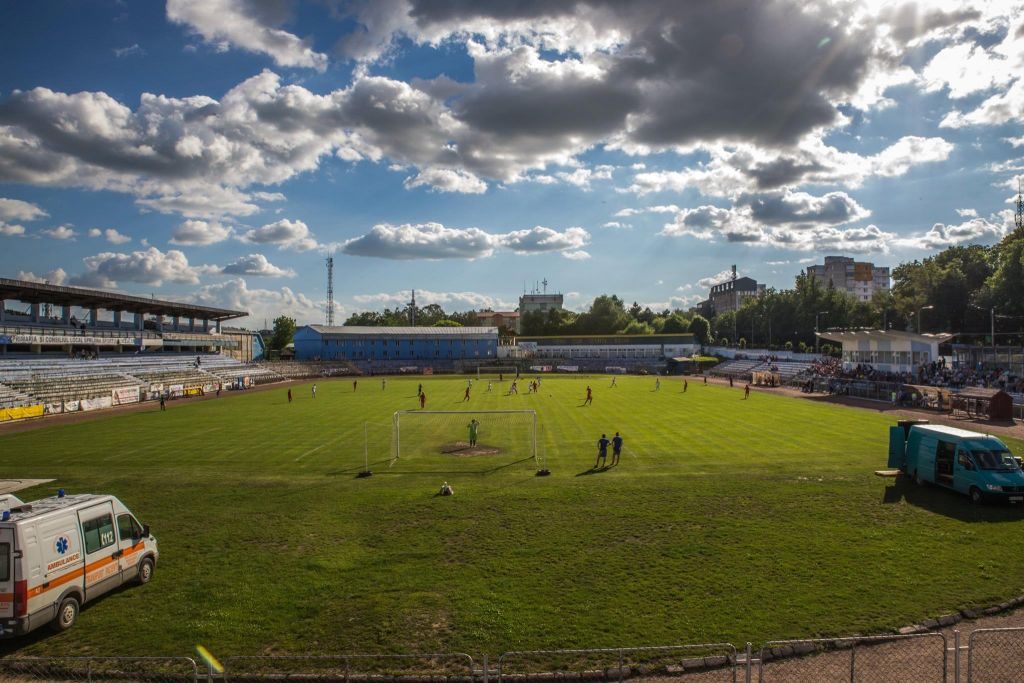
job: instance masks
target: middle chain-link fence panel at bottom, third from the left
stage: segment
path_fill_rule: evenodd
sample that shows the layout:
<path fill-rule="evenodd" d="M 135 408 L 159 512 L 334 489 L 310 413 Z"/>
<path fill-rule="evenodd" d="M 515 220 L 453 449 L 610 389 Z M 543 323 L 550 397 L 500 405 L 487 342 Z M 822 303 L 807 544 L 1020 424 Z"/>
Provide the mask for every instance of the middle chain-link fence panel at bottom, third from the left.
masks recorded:
<path fill-rule="evenodd" d="M 735 683 L 736 648 L 729 643 L 522 650 L 498 659 L 498 681 L 657 680 Z"/>

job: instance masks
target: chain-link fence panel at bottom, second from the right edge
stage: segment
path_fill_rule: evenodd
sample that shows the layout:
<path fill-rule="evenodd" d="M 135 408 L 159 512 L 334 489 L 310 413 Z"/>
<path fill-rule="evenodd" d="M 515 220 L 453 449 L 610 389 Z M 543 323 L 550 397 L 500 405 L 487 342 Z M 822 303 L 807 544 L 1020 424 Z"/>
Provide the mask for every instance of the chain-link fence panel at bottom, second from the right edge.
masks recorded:
<path fill-rule="evenodd" d="M 947 674 L 941 633 L 772 641 L 761 648 L 758 667 L 760 683 L 955 683 Z"/>

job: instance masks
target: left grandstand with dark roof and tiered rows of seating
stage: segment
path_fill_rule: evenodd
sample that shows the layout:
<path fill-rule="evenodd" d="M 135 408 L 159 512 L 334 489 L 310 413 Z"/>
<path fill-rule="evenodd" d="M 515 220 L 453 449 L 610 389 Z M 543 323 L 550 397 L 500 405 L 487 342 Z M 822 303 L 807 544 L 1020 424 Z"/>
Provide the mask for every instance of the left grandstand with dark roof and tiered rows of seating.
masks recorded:
<path fill-rule="evenodd" d="M 287 379 L 245 311 L 0 278 L 0 421 Z"/>

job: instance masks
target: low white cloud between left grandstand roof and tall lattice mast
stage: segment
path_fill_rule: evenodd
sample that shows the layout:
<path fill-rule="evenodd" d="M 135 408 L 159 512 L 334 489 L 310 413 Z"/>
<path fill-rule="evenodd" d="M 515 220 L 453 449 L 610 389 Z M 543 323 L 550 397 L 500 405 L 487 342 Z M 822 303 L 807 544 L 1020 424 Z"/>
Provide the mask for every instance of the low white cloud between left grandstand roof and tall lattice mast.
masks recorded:
<path fill-rule="evenodd" d="M 316 303 L 301 292 L 288 287 L 280 290 L 250 289 L 243 278 L 233 278 L 223 283 L 201 287 L 191 296 L 194 303 L 249 311 L 251 325 L 262 325 L 279 315 L 290 315 L 299 325 L 323 323 L 327 304 Z M 335 307 L 336 314 L 343 314 L 344 308 Z M 246 318 L 242 318 L 245 321 Z"/>

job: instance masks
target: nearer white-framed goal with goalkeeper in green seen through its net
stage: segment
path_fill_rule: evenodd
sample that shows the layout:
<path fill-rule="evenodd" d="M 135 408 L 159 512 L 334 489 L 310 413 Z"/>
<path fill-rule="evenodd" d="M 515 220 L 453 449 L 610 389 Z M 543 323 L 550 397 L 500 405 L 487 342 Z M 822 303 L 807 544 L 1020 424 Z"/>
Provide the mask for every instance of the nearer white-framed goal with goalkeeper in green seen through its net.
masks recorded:
<path fill-rule="evenodd" d="M 536 411 L 398 411 L 391 426 L 391 464 L 453 460 L 494 466 L 540 463 Z M 479 469 L 479 468 L 477 468 Z"/>

